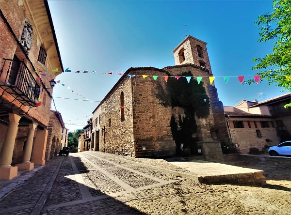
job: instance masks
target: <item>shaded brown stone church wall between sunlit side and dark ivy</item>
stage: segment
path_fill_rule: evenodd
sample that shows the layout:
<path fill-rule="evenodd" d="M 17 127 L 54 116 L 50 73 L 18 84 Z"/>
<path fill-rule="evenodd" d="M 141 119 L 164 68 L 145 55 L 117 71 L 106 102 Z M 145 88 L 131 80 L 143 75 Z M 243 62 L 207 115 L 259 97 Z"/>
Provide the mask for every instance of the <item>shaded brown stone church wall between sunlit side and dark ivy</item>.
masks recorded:
<path fill-rule="evenodd" d="M 166 72 L 155 68 L 136 68 L 134 75 L 167 76 Z M 164 77 L 132 78 L 133 132 L 135 156 L 167 156 L 176 154 L 176 144 L 172 137 L 170 121 L 171 107 L 164 107 L 157 97 L 157 83 L 165 84 Z M 146 150 L 143 150 L 146 147 Z"/>

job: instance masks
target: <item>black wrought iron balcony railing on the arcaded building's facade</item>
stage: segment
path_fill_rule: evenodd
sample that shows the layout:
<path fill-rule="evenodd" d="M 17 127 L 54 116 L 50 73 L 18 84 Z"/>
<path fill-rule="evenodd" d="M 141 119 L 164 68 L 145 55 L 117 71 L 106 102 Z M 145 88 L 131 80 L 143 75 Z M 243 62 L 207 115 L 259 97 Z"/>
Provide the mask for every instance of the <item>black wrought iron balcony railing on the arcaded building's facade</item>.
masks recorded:
<path fill-rule="evenodd" d="M 22 105 L 35 106 L 38 102 L 40 86 L 25 63 L 16 57 L 13 60 L 4 59 L 0 70 L 0 88 Z"/>

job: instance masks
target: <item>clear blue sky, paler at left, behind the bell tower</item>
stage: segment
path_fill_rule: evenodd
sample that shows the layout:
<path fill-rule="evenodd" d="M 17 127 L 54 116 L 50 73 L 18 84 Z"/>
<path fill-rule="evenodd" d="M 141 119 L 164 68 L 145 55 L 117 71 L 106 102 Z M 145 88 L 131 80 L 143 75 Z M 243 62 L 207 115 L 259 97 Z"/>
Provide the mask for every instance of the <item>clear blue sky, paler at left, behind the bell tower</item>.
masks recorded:
<path fill-rule="evenodd" d="M 57 84 L 53 96 L 65 123 L 71 124 L 85 124 L 97 103 L 57 97 L 101 101 L 120 78 L 117 72 L 131 66 L 175 65 L 172 50 L 185 38 L 184 25 L 187 34 L 208 43 L 216 77 L 254 75 L 252 59 L 271 53 L 274 43 L 257 42 L 259 27 L 254 24 L 259 15 L 272 11 L 272 0 L 55 0 L 49 1 L 49 7 L 64 68 L 89 71 L 56 78 L 70 87 Z M 97 73 L 91 74 L 94 70 Z M 113 75 L 101 74 L 111 71 Z M 214 82 L 225 106 L 287 93 L 266 81 L 250 86 L 240 84 L 236 77 L 226 84 L 223 78 Z M 66 127 L 73 131 L 83 126 Z"/>

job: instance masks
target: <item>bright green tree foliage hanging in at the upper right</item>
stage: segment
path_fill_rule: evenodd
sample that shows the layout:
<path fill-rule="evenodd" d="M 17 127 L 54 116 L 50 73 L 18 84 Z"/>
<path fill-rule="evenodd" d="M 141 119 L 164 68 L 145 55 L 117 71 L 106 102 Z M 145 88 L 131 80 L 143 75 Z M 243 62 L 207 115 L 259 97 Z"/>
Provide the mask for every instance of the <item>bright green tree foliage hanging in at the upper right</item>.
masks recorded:
<path fill-rule="evenodd" d="M 256 58 L 258 62 L 253 69 L 260 69 L 256 75 L 261 80 L 269 81 L 291 92 L 291 0 L 273 0 L 274 11 L 259 16 L 259 42 L 275 39 L 273 53 L 264 58 Z M 248 80 L 249 84 L 254 80 Z M 291 103 L 285 107 L 291 107 Z"/>

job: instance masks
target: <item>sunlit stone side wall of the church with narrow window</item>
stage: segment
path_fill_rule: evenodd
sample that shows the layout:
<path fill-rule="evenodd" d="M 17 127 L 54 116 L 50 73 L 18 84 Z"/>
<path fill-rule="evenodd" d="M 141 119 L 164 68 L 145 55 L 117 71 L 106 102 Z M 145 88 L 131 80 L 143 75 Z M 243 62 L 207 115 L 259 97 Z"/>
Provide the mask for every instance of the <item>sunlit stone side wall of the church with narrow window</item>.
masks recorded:
<path fill-rule="evenodd" d="M 123 122 L 121 122 L 121 109 L 119 108 L 121 92 L 124 93 L 125 106 L 125 120 Z M 111 120 L 111 126 L 109 126 L 109 119 Z M 102 103 L 99 135 L 100 152 L 104 151 L 104 145 L 106 153 L 134 155 L 130 77 L 124 77 Z"/>

